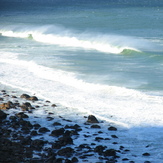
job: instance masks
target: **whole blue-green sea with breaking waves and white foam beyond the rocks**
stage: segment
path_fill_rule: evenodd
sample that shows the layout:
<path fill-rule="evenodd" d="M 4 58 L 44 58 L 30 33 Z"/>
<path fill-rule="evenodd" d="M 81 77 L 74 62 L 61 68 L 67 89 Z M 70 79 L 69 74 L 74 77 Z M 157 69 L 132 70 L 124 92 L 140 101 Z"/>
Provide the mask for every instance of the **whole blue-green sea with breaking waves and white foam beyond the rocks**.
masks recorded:
<path fill-rule="evenodd" d="M 161 162 L 163 1 L 1 0 L 0 84 L 127 128 Z"/>

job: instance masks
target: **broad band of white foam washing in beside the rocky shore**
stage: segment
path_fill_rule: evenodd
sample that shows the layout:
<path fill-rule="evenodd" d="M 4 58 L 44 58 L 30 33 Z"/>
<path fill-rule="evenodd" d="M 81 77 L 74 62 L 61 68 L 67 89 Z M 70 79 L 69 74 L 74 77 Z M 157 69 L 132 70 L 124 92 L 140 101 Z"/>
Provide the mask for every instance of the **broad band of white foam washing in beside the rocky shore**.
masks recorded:
<path fill-rule="evenodd" d="M 0 60 L 1 83 L 125 127 L 162 126 L 161 96 L 87 83 L 75 74 L 18 59 Z"/>

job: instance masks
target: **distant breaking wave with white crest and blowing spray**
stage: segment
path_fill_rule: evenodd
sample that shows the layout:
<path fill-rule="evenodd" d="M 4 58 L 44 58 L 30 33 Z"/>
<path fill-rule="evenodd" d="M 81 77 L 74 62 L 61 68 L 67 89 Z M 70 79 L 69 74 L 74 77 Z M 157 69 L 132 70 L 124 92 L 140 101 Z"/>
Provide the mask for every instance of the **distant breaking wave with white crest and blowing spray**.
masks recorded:
<path fill-rule="evenodd" d="M 127 45 L 128 43 L 131 44 L 132 41 L 129 37 L 86 32 L 77 33 L 56 26 L 10 26 L 0 29 L 0 33 L 7 37 L 28 38 L 42 43 L 96 50 L 103 53 L 123 54 L 126 49 L 140 52 L 136 47 Z"/>

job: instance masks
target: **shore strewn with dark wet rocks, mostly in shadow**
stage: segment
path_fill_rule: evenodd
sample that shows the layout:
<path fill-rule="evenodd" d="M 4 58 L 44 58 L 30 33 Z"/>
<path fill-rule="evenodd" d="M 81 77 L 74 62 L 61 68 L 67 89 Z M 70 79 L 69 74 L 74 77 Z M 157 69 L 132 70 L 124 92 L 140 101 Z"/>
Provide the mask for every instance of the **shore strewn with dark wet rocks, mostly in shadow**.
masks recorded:
<path fill-rule="evenodd" d="M 49 111 L 57 108 L 50 101 L 17 94 L 0 91 L 1 163 L 134 163 L 130 150 L 118 144 L 116 127 L 103 128 L 93 115 L 77 123 Z M 40 110 L 44 116 L 36 114 Z"/>

